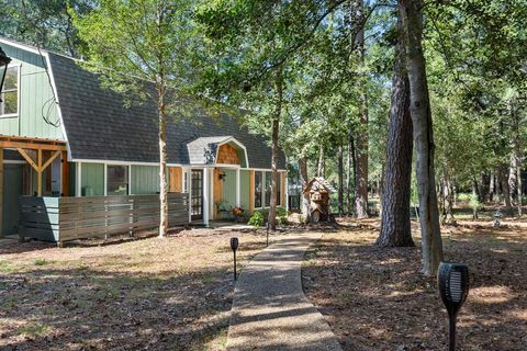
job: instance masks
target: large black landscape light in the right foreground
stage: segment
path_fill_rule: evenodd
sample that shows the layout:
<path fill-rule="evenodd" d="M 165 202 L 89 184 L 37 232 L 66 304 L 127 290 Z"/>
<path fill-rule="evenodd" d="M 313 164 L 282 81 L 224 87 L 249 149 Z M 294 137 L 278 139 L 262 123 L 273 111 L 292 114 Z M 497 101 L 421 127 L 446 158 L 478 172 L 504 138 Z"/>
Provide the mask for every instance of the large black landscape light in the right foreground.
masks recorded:
<path fill-rule="evenodd" d="M 449 351 L 456 350 L 456 321 L 469 294 L 469 268 L 461 263 L 439 264 L 437 274 L 439 293 L 448 312 L 449 319 Z"/>

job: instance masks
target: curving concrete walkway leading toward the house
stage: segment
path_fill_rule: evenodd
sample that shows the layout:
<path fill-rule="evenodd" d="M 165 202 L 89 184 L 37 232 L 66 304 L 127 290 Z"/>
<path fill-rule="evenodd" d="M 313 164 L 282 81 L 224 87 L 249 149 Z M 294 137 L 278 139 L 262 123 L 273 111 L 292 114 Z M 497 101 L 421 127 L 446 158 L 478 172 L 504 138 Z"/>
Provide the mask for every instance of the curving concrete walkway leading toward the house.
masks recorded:
<path fill-rule="evenodd" d="M 228 350 L 341 350 L 302 290 L 304 252 L 321 236 L 284 237 L 244 268 L 234 293 Z"/>

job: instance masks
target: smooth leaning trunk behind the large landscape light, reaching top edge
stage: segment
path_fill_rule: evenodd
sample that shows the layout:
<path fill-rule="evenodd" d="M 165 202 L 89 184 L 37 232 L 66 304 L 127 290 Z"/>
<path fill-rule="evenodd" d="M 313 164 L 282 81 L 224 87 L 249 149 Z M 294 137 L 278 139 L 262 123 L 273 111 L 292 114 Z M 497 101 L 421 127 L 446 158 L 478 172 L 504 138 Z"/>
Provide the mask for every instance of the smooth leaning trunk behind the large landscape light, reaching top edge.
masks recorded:
<path fill-rule="evenodd" d="M 437 208 L 434 170 L 434 133 L 430 100 L 423 54 L 423 1 L 400 0 L 406 33 L 406 57 L 410 79 L 410 112 L 417 150 L 416 173 L 419 195 L 423 273 L 435 275 L 442 260 L 442 241 Z"/>

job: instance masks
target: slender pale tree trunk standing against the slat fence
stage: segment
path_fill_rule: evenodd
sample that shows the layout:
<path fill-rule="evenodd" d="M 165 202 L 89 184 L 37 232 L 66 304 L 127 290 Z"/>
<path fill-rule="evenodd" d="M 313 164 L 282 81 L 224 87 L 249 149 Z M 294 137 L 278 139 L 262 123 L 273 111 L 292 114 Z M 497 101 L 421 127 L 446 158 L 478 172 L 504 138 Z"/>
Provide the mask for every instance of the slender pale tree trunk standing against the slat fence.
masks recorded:
<path fill-rule="evenodd" d="M 158 88 L 157 111 L 159 117 L 159 237 L 168 233 L 168 182 L 167 182 L 167 116 L 165 89 Z"/>

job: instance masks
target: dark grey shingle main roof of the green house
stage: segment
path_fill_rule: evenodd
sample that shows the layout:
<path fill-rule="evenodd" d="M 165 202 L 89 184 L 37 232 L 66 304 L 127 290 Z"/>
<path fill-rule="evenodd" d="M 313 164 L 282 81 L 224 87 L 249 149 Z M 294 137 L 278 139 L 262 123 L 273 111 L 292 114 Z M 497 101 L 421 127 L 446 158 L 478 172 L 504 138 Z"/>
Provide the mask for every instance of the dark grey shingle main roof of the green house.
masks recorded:
<path fill-rule="evenodd" d="M 49 53 L 49 60 L 74 160 L 158 162 L 155 105 L 124 107 L 121 95 L 102 89 L 97 76 L 72 59 Z M 271 148 L 262 136 L 249 134 L 227 115 L 213 120 L 198 112 L 192 122 L 167 123 L 168 162 L 191 163 L 187 144 L 218 136 L 242 143 L 250 168 L 271 168 Z M 285 169 L 282 151 L 278 166 Z"/>

